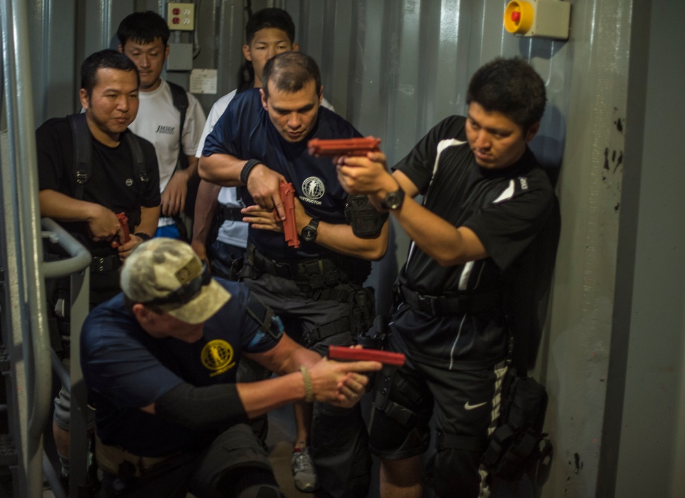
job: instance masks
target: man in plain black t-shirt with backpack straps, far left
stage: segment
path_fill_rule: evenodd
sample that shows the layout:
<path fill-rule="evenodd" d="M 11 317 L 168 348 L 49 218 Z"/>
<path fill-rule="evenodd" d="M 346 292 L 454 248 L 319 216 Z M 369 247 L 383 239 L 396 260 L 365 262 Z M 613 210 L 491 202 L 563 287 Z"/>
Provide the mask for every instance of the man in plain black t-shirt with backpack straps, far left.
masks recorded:
<path fill-rule="evenodd" d="M 127 130 L 138 112 L 138 84 L 138 71 L 129 58 L 113 50 L 96 52 L 81 67 L 85 112 L 49 119 L 36 130 L 40 215 L 62 224 L 92 254 L 90 307 L 119 294 L 121 262 L 157 228 L 160 185 L 155 150 Z M 79 123 L 74 124 L 77 137 L 70 119 Z M 140 163 L 135 160 L 135 144 Z M 88 166 L 75 165 L 80 146 L 86 151 L 90 147 Z M 128 241 L 118 213 L 128 219 Z M 58 283 L 55 294 L 66 285 Z M 62 390 L 55 399 L 53 433 L 65 478 L 69 404 L 69 392 Z"/>

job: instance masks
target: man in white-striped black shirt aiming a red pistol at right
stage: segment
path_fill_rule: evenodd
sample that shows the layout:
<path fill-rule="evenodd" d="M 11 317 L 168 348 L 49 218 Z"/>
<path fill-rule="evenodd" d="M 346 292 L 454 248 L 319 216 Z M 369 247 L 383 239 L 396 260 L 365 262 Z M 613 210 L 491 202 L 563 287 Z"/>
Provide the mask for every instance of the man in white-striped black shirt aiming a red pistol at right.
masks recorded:
<path fill-rule="evenodd" d="M 508 282 L 557 221 L 556 196 L 527 147 L 545 100 L 527 62 L 497 59 L 473 75 L 467 116 L 438 123 L 393 174 L 380 152 L 337 160 L 343 187 L 368 194 L 412 239 L 387 334 L 407 361 L 377 379 L 393 388 L 377 394 L 370 429 L 384 497 L 420 497 L 423 484 L 439 497 L 488 496 L 480 459 L 506 373 Z M 422 477 L 433 415 L 436 453 Z"/>

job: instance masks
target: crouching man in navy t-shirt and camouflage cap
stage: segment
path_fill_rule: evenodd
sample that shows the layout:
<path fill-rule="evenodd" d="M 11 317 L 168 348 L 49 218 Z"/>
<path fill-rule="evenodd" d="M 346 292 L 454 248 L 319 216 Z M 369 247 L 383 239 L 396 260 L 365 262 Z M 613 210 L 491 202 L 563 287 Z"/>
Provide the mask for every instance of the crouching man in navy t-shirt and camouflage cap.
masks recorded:
<path fill-rule="evenodd" d="M 105 496 L 282 497 L 249 418 L 298 400 L 349 408 L 368 381 L 356 372 L 381 367 L 298 346 L 249 289 L 211 278 L 177 239 L 136 248 L 121 288 L 81 336 Z M 243 355 L 280 377 L 236 383 Z"/>

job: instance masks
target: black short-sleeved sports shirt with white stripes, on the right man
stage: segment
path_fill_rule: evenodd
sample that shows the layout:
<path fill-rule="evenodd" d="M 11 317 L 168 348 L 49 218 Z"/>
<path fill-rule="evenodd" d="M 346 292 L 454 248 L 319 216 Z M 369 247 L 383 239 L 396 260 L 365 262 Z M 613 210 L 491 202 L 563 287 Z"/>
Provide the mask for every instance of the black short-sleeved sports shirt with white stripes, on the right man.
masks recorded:
<path fill-rule="evenodd" d="M 479 167 L 466 142 L 465 122 L 453 116 L 438 123 L 395 169 L 416 185 L 426 209 L 473 230 L 489 257 L 445 268 L 412 242 L 399 282 L 420 294 L 503 289 L 506 272 L 545 228 L 556 202 L 547 174 L 527 148 L 510 167 Z M 400 307 L 393 318 L 393 327 L 406 331 L 403 340 L 412 354 L 431 363 L 478 368 L 499 361 L 505 351 L 499 309 L 480 316 L 430 317 Z"/>

